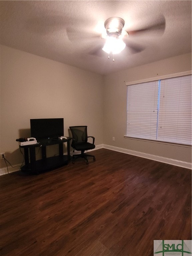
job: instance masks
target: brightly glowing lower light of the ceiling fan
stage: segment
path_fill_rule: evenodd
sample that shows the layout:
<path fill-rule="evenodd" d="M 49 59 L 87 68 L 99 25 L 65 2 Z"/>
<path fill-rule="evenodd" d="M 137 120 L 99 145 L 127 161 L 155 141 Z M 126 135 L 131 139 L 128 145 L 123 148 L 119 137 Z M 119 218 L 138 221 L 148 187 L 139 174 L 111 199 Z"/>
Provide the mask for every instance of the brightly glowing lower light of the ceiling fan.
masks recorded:
<path fill-rule="evenodd" d="M 125 49 L 125 46 L 126 45 L 122 39 L 113 36 L 108 36 L 102 50 L 108 54 L 118 54 Z"/>

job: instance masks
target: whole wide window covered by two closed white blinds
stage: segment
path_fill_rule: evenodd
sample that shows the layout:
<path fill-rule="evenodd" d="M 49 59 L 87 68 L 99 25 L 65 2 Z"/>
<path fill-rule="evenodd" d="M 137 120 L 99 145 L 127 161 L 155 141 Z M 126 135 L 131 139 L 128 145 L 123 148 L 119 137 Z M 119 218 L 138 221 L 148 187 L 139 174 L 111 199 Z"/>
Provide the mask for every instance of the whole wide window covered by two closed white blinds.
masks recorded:
<path fill-rule="evenodd" d="M 191 145 L 191 75 L 127 87 L 127 134 Z"/>

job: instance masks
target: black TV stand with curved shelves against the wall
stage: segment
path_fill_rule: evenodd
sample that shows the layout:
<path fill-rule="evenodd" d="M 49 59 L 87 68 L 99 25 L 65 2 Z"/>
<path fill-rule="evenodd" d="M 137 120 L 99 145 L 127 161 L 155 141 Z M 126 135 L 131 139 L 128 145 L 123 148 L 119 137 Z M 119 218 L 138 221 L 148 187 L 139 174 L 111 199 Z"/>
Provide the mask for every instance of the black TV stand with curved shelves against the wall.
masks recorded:
<path fill-rule="evenodd" d="M 67 165 L 71 159 L 70 156 L 70 137 L 67 139 L 49 138 L 37 140 L 38 144 L 19 146 L 24 148 L 25 165 L 21 167 L 21 171 L 38 174 L 39 172 L 56 169 L 63 165 Z M 67 143 L 67 155 L 63 155 L 63 143 Z M 51 145 L 59 145 L 59 155 L 47 157 L 46 147 Z M 41 147 L 42 159 L 36 160 L 35 149 Z"/>

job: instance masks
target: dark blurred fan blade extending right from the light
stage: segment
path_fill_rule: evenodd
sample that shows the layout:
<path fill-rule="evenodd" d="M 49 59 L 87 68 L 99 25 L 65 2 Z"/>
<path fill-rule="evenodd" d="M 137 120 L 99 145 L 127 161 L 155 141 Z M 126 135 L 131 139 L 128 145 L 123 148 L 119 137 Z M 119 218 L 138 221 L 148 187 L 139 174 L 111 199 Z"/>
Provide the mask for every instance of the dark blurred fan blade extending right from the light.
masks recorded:
<path fill-rule="evenodd" d="M 152 25 L 146 26 L 144 28 L 127 31 L 129 35 L 136 35 L 141 32 L 157 32 L 159 35 L 163 34 L 166 27 L 166 21 L 164 15 L 160 16 Z"/>

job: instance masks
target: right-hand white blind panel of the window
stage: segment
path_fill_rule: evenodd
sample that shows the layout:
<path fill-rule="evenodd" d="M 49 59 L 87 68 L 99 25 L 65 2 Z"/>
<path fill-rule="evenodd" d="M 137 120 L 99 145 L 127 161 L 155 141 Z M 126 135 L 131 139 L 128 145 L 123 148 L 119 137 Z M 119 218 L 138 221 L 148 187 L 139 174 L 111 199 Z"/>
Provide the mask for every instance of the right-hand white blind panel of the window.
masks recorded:
<path fill-rule="evenodd" d="M 161 80 L 157 140 L 191 144 L 191 76 Z"/>

